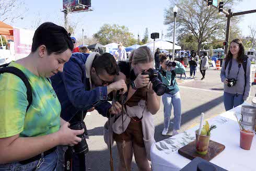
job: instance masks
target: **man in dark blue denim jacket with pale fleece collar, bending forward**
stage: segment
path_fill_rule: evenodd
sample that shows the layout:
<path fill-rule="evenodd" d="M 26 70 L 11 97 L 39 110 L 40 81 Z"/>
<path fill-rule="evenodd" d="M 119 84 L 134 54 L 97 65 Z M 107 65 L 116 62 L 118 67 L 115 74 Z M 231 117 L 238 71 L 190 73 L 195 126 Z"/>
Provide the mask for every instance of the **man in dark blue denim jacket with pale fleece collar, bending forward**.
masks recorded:
<path fill-rule="evenodd" d="M 124 80 L 114 82 L 117 75 L 119 67 L 111 54 L 73 53 L 63 72 L 51 77 L 61 103 L 61 117 L 72 124 L 81 121 L 83 113 L 94 109 L 108 118 L 120 113 L 122 106 L 118 102 L 111 105 L 107 101 L 110 92 L 127 91 Z M 59 158 L 63 160 L 63 155 Z M 62 162 L 59 161 L 60 165 Z M 72 170 L 79 170 L 77 155 L 73 157 L 72 167 Z"/>

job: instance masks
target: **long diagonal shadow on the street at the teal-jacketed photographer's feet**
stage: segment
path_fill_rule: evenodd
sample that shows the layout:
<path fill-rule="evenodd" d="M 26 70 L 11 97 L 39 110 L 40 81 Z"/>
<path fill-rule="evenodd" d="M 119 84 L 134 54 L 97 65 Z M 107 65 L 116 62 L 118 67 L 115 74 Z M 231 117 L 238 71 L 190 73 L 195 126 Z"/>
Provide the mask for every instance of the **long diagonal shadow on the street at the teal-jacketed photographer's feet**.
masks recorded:
<path fill-rule="evenodd" d="M 200 116 L 201 112 L 199 112 L 199 111 L 207 112 L 211 108 L 219 105 L 220 103 L 223 103 L 223 96 L 220 96 L 220 97 L 218 97 L 218 98 L 216 98 L 216 99 L 214 99 L 214 100 L 212 100 L 210 102 L 207 102 L 207 103 L 204 103 L 204 104 L 202 104 L 202 105 L 200 105 L 198 107 L 195 107 L 195 108 L 191 109 L 188 112 L 182 113 L 181 114 L 181 117 L 182 117 L 181 118 L 181 126 L 184 125 L 185 123 L 188 123 L 190 120 L 194 119 L 195 117 Z M 171 119 L 171 122 L 173 122 L 173 121 L 174 120 Z M 172 130 L 171 127 L 172 126 L 169 127 L 169 131 L 170 131 L 170 129 Z M 155 127 L 155 140 L 156 140 L 156 142 L 164 140 L 164 139 L 167 139 L 167 138 L 170 137 L 170 136 L 162 136 L 162 134 L 161 134 L 162 133 L 162 129 L 164 129 L 164 123 L 162 123 L 161 125 L 157 125 Z"/>

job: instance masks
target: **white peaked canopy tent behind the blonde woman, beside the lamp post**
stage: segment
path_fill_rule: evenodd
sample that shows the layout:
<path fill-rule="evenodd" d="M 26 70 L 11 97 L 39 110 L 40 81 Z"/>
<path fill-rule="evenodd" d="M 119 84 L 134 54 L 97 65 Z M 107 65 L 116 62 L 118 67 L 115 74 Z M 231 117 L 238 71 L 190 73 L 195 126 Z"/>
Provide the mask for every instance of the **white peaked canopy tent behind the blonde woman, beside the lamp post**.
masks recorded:
<path fill-rule="evenodd" d="M 146 43 L 142 46 L 147 46 L 150 48 L 150 50 L 154 51 L 154 41 Z M 162 39 L 158 39 L 155 41 L 155 50 L 157 48 L 160 48 L 160 50 L 172 50 L 172 46 L 173 44 L 171 42 L 162 40 Z M 178 46 L 175 44 L 175 50 L 181 50 L 181 46 Z"/>

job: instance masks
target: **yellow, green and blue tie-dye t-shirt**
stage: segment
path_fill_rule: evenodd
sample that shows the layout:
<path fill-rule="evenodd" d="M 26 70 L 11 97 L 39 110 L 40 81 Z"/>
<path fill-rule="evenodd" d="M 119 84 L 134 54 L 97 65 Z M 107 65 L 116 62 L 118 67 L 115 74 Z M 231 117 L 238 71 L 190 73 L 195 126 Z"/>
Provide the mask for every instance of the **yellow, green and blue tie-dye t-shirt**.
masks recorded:
<path fill-rule="evenodd" d="M 11 62 L 20 69 L 32 88 L 32 103 L 28 106 L 27 88 L 17 76 L 0 75 L 0 138 L 20 133 L 20 137 L 37 137 L 54 133 L 60 128 L 61 104 L 51 83 L 25 67 Z"/>

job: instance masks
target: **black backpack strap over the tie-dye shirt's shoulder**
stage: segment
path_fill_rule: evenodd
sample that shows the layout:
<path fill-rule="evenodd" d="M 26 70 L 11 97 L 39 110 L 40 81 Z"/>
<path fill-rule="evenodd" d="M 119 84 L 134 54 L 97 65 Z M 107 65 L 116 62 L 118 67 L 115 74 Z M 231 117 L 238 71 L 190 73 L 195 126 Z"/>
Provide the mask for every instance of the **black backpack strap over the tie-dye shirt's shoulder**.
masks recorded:
<path fill-rule="evenodd" d="M 26 77 L 26 75 L 18 68 L 15 67 L 7 67 L 9 64 L 4 64 L 0 66 L 0 74 L 7 72 L 10 74 L 14 74 L 17 77 L 19 77 L 25 84 L 26 88 L 27 88 L 27 100 L 28 100 L 28 106 L 27 106 L 27 110 L 30 107 L 31 103 L 32 103 L 32 89 L 30 86 L 30 83 L 28 81 L 28 78 Z"/>

